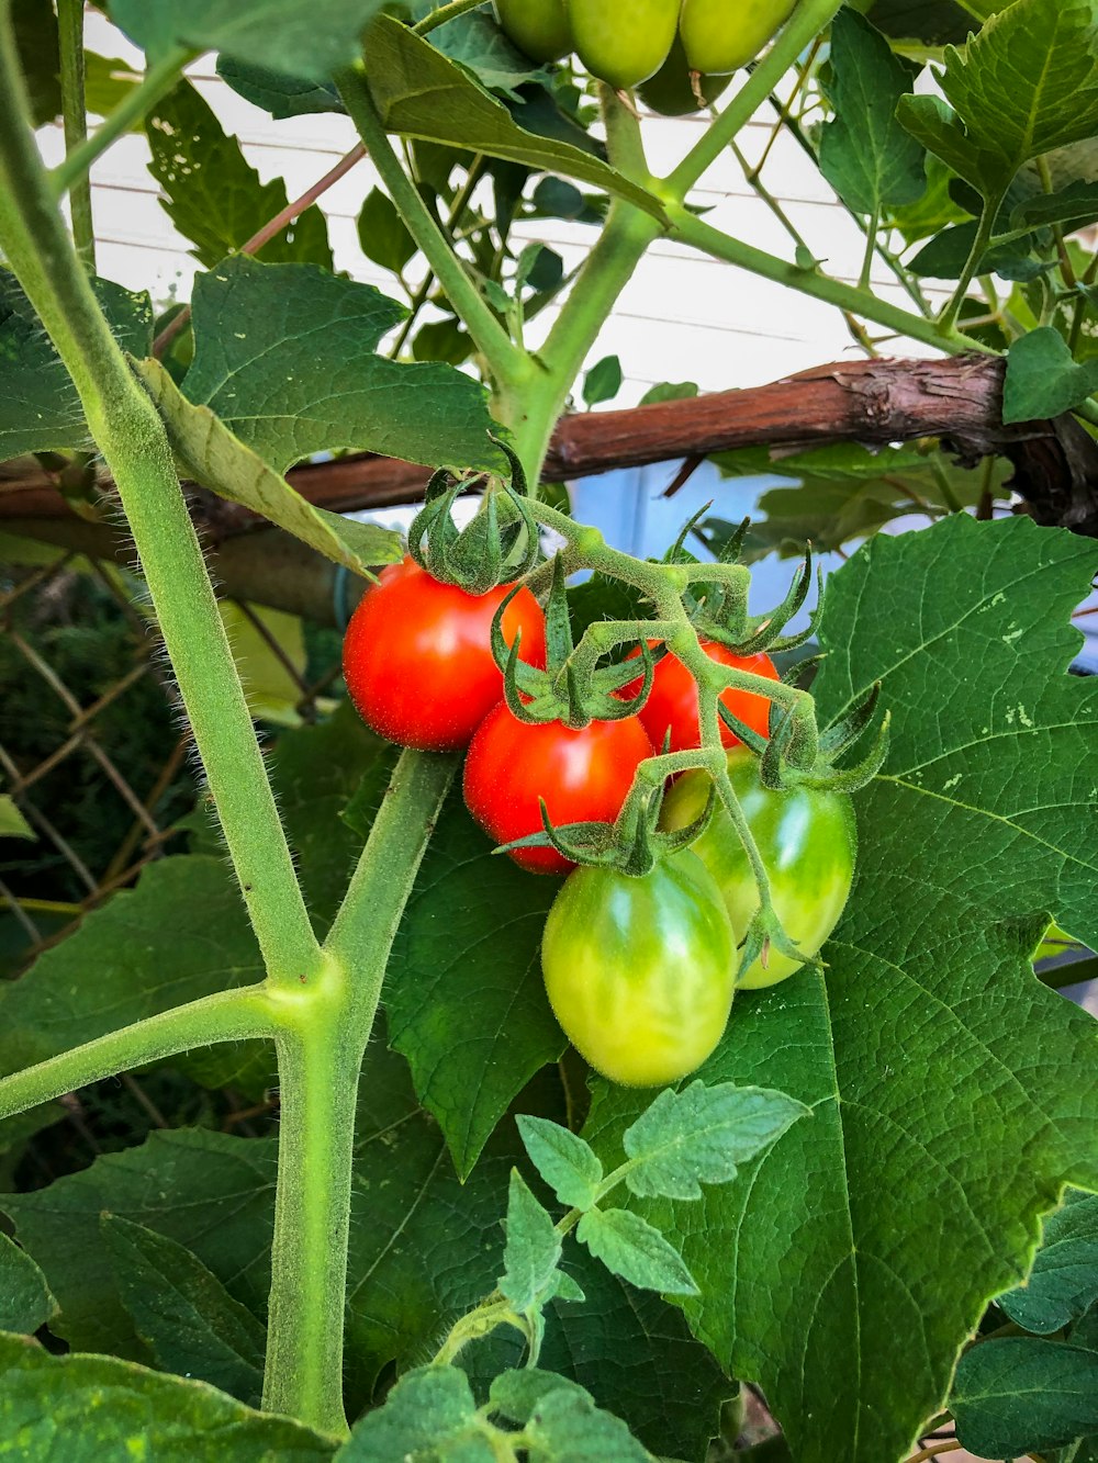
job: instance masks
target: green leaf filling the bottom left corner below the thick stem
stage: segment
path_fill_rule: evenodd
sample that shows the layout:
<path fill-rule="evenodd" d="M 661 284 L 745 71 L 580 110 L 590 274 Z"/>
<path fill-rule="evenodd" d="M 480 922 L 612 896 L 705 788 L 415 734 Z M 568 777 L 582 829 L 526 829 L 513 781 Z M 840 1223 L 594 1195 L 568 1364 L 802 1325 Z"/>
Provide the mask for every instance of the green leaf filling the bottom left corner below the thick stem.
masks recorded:
<path fill-rule="evenodd" d="M 335 1447 L 205 1383 L 114 1356 L 51 1356 L 20 1336 L 0 1336 L 0 1434 L 10 1457 L 35 1463 L 319 1463 Z"/>

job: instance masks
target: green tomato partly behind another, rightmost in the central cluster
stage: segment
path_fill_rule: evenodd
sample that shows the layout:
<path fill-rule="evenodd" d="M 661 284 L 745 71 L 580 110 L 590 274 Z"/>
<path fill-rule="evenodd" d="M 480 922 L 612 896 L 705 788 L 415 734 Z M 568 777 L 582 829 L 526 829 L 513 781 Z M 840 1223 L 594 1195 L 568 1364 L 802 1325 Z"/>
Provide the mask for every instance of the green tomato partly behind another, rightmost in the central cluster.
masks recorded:
<path fill-rule="evenodd" d="M 814 955 L 839 923 L 851 892 L 856 851 L 854 805 L 846 793 L 808 787 L 776 793 L 763 787 L 758 762 L 745 748 L 728 753 L 728 774 L 770 875 L 770 897 L 782 928 L 805 955 Z M 709 787 L 704 772 L 684 772 L 663 799 L 663 827 L 685 828 L 694 822 L 706 806 Z M 758 909 L 758 887 L 722 805 L 690 847 L 716 879 L 732 930 L 742 941 Z M 774 986 L 799 969 L 789 955 L 772 948 L 766 967 L 761 957 L 755 960 L 739 986 L 747 990 Z"/>

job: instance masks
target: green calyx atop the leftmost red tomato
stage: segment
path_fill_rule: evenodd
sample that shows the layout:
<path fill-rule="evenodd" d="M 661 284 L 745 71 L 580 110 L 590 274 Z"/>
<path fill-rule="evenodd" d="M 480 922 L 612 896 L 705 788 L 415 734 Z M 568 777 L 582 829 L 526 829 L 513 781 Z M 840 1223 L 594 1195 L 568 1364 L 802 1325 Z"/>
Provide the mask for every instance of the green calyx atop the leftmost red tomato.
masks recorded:
<path fill-rule="evenodd" d="M 441 468 L 427 483 L 423 508 L 408 528 L 408 553 L 441 584 L 488 594 L 530 572 L 542 557 L 540 527 L 530 503 L 523 464 L 507 442 L 492 437 L 509 464 L 509 478 L 454 474 Z M 458 528 L 454 503 L 482 480 L 474 518 Z"/>

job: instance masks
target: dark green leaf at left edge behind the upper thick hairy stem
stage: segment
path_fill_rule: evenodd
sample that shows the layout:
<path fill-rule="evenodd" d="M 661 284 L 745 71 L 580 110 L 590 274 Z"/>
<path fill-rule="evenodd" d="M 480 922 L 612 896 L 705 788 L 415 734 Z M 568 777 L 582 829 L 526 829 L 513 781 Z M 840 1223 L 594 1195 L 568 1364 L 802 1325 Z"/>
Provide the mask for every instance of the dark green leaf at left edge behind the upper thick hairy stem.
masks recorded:
<path fill-rule="evenodd" d="M 149 297 L 108 279 L 97 279 L 94 288 L 119 344 L 146 356 Z M 0 461 L 86 446 L 91 435 L 72 377 L 15 275 L 0 268 Z"/>

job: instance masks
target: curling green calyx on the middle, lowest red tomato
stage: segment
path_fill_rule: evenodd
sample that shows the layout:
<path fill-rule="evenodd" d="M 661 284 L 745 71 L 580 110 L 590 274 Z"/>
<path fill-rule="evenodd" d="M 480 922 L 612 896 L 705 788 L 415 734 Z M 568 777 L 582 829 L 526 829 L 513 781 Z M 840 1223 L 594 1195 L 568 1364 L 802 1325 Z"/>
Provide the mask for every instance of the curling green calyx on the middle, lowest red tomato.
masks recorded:
<path fill-rule="evenodd" d="M 625 721 L 644 705 L 656 663 L 663 657 L 665 648 L 649 645 L 647 623 L 634 625 L 627 620 L 605 620 L 589 626 L 577 647 L 564 581 L 564 559 L 556 554 L 545 606 L 545 670 L 520 660 L 518 639 L 507 642 L 502 620 L 508 601 L 504 600 L 496 612 L 492 622 L 492 654 L 504 673 L 507 704 L 518 721 L 562 721 L 572 730 L 591 721 Z M 644 674 L 640 691 L 622 696 L 622 686 L 637 680 L 635 660 L 616 664 L 600 661 L 616 645 L 632 642 L 640 647 Z"/>

